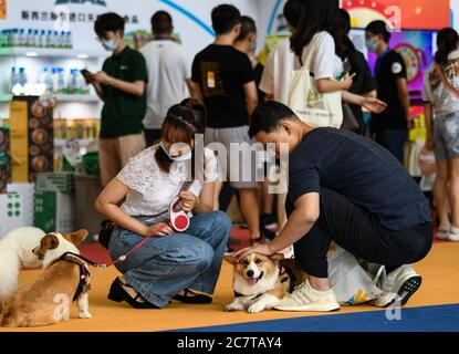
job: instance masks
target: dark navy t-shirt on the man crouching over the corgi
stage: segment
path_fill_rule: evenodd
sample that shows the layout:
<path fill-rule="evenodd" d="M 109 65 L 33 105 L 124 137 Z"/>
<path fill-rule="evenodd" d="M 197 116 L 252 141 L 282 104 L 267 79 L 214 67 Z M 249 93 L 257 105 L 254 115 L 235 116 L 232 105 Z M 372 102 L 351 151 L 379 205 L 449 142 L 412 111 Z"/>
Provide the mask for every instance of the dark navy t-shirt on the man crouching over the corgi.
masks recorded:
<path fill-rule="evenodd" d="M 355 133 L 316 128 L 290 156 L 286 210 L 321 187 L 366 208 L 390 230 L 430 222 L 427 200 L 400 163 L 385 148 Z"/>

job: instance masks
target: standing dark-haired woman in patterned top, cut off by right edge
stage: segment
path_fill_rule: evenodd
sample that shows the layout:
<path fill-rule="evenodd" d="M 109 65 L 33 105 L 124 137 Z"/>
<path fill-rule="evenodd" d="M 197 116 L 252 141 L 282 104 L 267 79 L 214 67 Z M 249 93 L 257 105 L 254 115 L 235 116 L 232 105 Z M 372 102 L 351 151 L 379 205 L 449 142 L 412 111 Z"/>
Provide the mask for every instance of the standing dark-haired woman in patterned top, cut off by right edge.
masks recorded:
<path fill-rule="evenodd" d="M 438 33 L 435 63 L 424 79 L 427 148 L 435 150 L 435 204 L 440 219 L 437 237 L 459 241 L 459 37 L 453 29 Z M 434 123 L 435 113 L 435 123 Z M 448 217 L 451 206 L 452 225 Z"/>

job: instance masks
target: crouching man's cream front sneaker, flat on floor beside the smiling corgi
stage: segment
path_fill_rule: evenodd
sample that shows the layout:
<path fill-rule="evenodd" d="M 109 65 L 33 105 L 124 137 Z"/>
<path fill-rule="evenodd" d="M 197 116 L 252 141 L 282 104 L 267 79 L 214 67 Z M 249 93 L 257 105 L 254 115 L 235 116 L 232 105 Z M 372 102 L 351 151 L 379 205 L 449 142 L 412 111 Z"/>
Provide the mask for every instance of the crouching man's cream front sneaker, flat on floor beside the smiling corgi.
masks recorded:
<path fill-rule="evenodd" d="M 333 290 L 315 290 L 306 280 L 274 309 L 280 311 L 328 312 L 340 310 L 340 304 Z"/>

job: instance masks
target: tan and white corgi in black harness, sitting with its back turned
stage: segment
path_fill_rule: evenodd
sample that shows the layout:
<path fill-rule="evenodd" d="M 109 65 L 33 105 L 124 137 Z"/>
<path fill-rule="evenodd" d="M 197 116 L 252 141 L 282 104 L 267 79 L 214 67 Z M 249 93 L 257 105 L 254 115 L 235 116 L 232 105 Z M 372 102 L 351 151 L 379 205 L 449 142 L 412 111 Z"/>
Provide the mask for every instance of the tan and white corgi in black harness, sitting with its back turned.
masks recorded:
<path fill-rule="evenodd" d="M 28 288 L 19 289 L 0 313 L 0 325 L 8 327 L 42 326 L 69 319 L 70 304 L 77 301 L 80 319 L 91 319 L 88 311 L 90 273 L 81 260 L 77 244 L 86 230 L 69 235 L 45 235 L 33 249 L 43 263 L 43 272 Z M 69 252 L 76 254 L 69 254 Z"/>

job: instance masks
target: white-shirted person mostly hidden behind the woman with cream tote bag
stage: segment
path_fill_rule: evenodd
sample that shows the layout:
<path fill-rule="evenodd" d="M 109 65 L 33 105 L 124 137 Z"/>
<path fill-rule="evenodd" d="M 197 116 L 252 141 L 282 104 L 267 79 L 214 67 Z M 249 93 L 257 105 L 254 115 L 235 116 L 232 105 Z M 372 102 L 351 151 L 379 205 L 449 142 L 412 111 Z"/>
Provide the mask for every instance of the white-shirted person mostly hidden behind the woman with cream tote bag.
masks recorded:
<path fill-rule="evenodd" d="M 290 32 L 294 33 L 300 21 L 303 0 L 289 0 L 283 8 L 283 15 L 289 24 Z M 260 81 L 260 90 L 264 92 L 265 100 L 289 104 L 290 75 L 293 71 L 295 56 L 290 49 L 290 39 L 277 44 L 268 55 L 263 75 Z M 278 223 L 280 229 L 286 222 L 285 197 L 286 194 L 278 195 Z M 269 209 L 264 210 L 269 214 Z M 264 225 L 272 217 L 268 217 Z M 263 221 L 263 220 L 262 220 Z"/>

